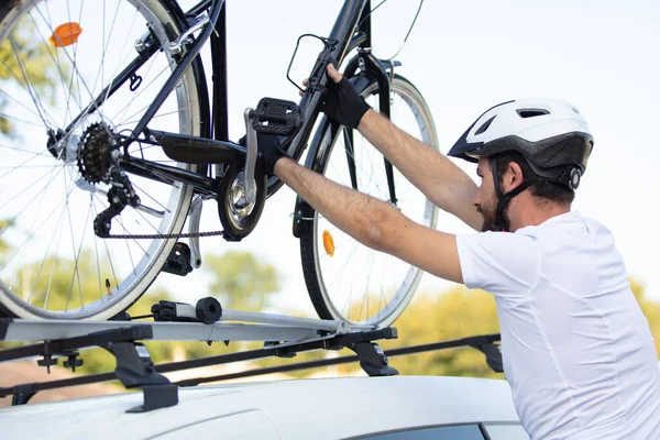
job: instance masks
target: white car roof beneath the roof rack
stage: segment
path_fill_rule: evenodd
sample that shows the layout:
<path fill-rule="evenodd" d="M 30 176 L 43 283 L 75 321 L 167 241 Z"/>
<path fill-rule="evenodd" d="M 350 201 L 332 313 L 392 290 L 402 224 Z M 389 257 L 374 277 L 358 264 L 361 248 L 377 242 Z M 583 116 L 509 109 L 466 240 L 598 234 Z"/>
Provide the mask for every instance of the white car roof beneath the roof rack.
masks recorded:
<path fill-rule="evenodd" d="M 174 407 L 127 414 L 142 393 L 0 410 L 7 438 L 342 439 L 407 428 L 518 422 L 505 381 L 341 377 L 197 386 Z"/>

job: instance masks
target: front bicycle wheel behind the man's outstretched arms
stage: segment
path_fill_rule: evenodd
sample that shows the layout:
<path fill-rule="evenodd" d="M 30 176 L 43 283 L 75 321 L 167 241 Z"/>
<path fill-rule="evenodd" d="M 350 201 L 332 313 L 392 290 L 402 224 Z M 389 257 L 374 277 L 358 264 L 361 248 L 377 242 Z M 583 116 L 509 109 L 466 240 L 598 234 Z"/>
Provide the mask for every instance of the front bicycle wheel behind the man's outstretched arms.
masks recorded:
<path fill-rule="evenodd" d="M 362 92 L 374 109 L 378 109 L 377 85 L 370 84 Z M 395 76 L 392 82 L 392 121 L 433 148 L 438 148 L 436 129 L 429 109 L 419 91 L 407 79 Z M 320 154 L 315 170 L 329 179 L 381 200 L 391 200 L 383 155 L 360 133 L 346 129 L 333 131 L 321 123 Z M 352 161 L 349 161 L 348 157 Z M 351 176 L 350 162 L 354 163 Z M 406 217 L 433 228 L 437 208 L 396 168 L 395 206 Z M 302 271 L 311 301 L 323 319 L 350 323 L 389 326 L 404 311 L 419 284 L 421 271 L 392 255 L 364 246 L 314 212 L 312 233 L 300 240 Z M 326 242 L 324 242 L 326 241 Z"/>

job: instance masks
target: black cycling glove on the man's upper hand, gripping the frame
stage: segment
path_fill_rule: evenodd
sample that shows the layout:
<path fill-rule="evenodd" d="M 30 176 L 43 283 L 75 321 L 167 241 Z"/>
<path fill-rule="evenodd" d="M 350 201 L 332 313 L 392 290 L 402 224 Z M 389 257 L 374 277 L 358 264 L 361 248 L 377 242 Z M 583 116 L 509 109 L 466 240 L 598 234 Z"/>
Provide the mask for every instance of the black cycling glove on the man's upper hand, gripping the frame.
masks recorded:
<path fill-rule="evenodd" d="M 360 96 L 355 86 L 345 77 L 338 84 L 328 78 L 328 92 L 321 110 L 334 122 L 356 129 L 371 107 Z"/>

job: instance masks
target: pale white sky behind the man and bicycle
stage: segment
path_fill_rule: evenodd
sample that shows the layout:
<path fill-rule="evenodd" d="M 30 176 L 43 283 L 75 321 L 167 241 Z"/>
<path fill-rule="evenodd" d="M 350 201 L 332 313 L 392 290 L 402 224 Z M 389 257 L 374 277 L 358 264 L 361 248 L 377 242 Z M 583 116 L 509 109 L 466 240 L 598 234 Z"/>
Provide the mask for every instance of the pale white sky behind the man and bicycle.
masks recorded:
<path fill-rule="evenodd" d="M 231 139 L 244 133 L 245 107 L 256 106 L 265 96 L 297 99 L 297 90 L 286 79 L 296 40 L 304 33 L 328 35 L 341 4 L 337 0 L 228 2 Z M 376 56 L 388 58 L 397 52 L 417 6 L 416 1 L 389 0 L 374 13 Z M 628 273 L 657 301 L 660 240 L 653 184 L 660 161 L 660 140 L 654 135 L 660 117 L 659 20 L 660 3 L 650 0 L 427 0 L 396 57 L 403 63 L 397 73 L 418 87 L 431 109 L 443 153 L 496 103 L 536 96 L 578 106 L 591 125 L 595 146 L 573 209 L 614 233 Z M 294 78 L 306 76 L 306 66 L 316 57 L 308 55 L 294 64 Z M 474 165 L 457 163 L 476 182 Z M 255 231 L 241 243 L 209 238 L 201 246 L 208 253 L 255 253 L 284 276 L 286 307 L 282 308 L 314 314 L 298 241 L 290 233 L 294 197 L 284 188 L 268 199 Z M 212 202 L 205 205 L 202 230 L 219 227 L 216 212 Z M 437 229 L 470 232 L 443 212 Z M 202 273 L 179 279 L 161 277 L 169 286 L 186 286 L 188 294 L 182 300 L 195 300 L 207 286 Z M 420 290 L 441 293 L 451 286 L 425 274 Z"/>

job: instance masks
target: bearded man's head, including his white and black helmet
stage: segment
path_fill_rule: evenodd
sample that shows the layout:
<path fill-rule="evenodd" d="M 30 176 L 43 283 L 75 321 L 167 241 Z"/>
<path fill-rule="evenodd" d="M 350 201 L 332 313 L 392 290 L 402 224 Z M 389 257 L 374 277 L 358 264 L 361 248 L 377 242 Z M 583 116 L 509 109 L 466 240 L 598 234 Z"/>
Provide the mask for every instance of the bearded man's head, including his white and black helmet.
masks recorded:
<path fill-rule="evenodd" d="M 527 188 L 535 202 L 570 207 L 593 147 L 588 125 L 564 101 L 519 99 L 482 114 L 449 152 L 479 162 L 474 200 L 484 230 L 508 230 L 508 204 Z"/>

